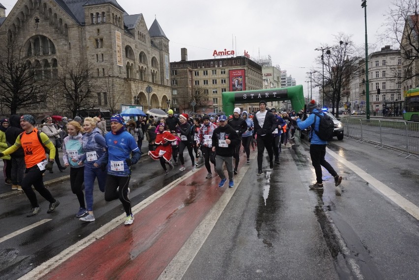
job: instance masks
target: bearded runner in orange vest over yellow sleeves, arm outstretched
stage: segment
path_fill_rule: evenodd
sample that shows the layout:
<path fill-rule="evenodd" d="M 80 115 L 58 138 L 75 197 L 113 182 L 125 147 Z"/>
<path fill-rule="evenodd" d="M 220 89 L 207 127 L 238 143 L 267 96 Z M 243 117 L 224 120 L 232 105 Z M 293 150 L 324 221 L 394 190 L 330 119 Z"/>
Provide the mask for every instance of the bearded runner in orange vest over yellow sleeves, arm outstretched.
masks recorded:
<path fill-rule="evenodd" d="M 27 217 L 35 216 L 41 211 L 32 185 L 42 197 L 50 202 L 47 213 L 53 213 L 57 206 L 60 205 L 60 201 L 55 199 L 51 192 L 45 188 L 42 174 L 45 170 L 52 170 L 56 149 L 48 136 L 41 131 L 38 132 L 38 129 L 33 126 L 35 124 L 35 118 L 31 115 L 23 115 L 20 119 L 20 124 L 25 132 L 22 132 L 18 136 L 13 146 L 0 153 L 0 157 L 14 153 L 22 146 L 25 152 L 26 163 L 26 175 L 22 181 L 22 189 L 32 206 Z M 44 147 L 50 150 L 51 157 L 48 161 L 45 156 Z"/>

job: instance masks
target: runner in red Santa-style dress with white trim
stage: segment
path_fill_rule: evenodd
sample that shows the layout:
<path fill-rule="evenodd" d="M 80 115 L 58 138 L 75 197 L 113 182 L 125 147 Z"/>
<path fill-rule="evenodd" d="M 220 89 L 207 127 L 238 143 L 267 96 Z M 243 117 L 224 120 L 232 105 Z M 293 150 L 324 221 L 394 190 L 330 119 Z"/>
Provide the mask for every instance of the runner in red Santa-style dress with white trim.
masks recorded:
<path fill-rule="evenodd" d="M 149 151 L 149 155 L 154 160 L 160 160 L 160 164 L 163 167 L 163 174 L 167 175 L 169 172 L 167 171 L 166 164 L 169 165 L 170 170 L 173 169 L 173 164 L 171 161 L 172 158 L 172 142 L 178 141 L 175 136 L 173 136 L 167 124 L 159 124 L 158 132 L 156 136 L 155 144 L 157 148 L 155 151 Z"/>

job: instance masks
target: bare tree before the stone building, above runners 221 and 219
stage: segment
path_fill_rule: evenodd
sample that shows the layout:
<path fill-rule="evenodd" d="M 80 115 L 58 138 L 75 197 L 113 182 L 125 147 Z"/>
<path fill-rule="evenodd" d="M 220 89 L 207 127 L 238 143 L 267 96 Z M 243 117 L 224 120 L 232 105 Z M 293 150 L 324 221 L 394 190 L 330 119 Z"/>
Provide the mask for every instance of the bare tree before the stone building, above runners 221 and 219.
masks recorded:
<path fill-rule="evenodd" d="M 76 117 L 80 110 L 92 109 L 95 106 L 98 89 L 97 80 L 92 75 L 87 59 L 81 58 L 71 61 L 66 58 L 60 64 L 57 75 L 57 90 L 63 94 L 63 109 L 70 111 L 72 118 Z"/>

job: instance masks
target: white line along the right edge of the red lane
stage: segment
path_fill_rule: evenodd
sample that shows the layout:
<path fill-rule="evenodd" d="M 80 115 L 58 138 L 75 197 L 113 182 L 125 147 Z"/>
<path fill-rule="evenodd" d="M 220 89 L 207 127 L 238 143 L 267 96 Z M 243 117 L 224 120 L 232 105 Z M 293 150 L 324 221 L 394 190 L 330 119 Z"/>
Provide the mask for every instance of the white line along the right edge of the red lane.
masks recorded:
<path fill-rule="evenodd" d="M 251 159 L 256 157 L 256 153 L 252 153 L 250 156 Z M 240 168 L 238 175 L 234 177 L 234 187 L 231 189 L 226 189 L 220 199 L 215 203 L 211 208 L 208 215 L 202 220 L 202 222 L 197 226 L 188 240 L 185 242 L 183 247 L 179 250 L 176 256 L 172 261 L 167 265 L 165 270 L 160 274 L 158 280 L 177 280 L 181 279 L 185 274 L 186 270 L 189 268 L 196 254 L 201 249 L 207 240 L 212 228 L 215 226 L 215 223 L 220 218 L 221 214 L 224 211 L 224 208 L 229 203 L 233 194 L 235 193 L 237 187 L 239 186 L 241 180 L 249 169 L 248 165 L 244 165 Z"/>

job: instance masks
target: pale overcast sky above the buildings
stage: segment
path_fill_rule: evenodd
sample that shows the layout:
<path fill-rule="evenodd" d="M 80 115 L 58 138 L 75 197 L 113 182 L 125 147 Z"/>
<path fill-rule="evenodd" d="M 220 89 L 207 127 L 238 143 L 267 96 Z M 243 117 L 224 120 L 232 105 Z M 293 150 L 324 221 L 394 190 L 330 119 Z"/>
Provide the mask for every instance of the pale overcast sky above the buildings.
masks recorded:
<path fill-rule="evenodd" d="M 368 42 L 377 50 L 386 42 L 385 14 L 394 0 L 367 0 Z M 16 0 L 0 0 L 7 8 Z M 150 28 L 157 18 L 170 40 L 170 61 L 180 61 L 180 48 L 188 49 L 188 60 L 212 58 L 214 50 L 233 48 L 242 55 L 268 56 L 273 65 L 287 70 L 307 91 L 307 74 L 320 52 L 332 44 L 333 34 L 353 35 L 355 45 L 365 44 L 364 9 L 361 0 L 118 0 L 125 11 L 142 13 Z M 398 49 L 399 46 L 392 46 Z M 309 78 L 308 78 L 309 80 Z M 313 88 L 313 93 L 317 92 Z"/>

